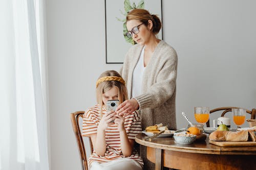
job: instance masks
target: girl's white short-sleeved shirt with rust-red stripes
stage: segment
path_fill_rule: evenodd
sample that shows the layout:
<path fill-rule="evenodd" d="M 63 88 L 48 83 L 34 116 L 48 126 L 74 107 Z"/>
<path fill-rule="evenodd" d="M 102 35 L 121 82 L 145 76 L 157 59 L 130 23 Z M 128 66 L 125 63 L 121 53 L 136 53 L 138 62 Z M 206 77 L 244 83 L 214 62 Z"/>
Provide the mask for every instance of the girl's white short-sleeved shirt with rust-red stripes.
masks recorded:
<path fill-rule="evenodd" d="M 103 106 L 102 115 L 106 114 L 106 109 Z M 90 136 L 91 134 L 97 133 L 97 127 L 100 122 L 100 106 L 95 105 L 89 108 L 83 115 L 82 123 L 82 135 Z M 124 117 L 124 128 L 129 139 L 135 139 L 135 136 L 141 133 L 141 118 L 140 114 L 134 112 Z M 130 158 L 137 161 L 143 166 L 143 161 L 139 156 L 138 152 L 133 149 L 133 153 L 129 157 L 122 155 L 120 134 L 118 131 L 118 125 L 114 124 L 106 128 L 105 130 L 105 141 L 106 141 L 106 152 L 104 156 L 99 156 L 93 151 L 89 158 L 89 166 L 93 161 L 99 163 L 109 162 L 120 158 Z"/>

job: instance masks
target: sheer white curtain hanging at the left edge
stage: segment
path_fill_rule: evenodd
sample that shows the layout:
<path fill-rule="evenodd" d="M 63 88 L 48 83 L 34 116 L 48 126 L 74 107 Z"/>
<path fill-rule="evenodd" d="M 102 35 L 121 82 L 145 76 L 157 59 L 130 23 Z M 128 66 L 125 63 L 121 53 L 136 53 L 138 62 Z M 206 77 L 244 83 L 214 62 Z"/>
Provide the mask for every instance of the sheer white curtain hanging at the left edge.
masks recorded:
<path fill-rule="evenodd" d="M 48 170 L 45 0 L 0 1 L 0 169 Z"/>

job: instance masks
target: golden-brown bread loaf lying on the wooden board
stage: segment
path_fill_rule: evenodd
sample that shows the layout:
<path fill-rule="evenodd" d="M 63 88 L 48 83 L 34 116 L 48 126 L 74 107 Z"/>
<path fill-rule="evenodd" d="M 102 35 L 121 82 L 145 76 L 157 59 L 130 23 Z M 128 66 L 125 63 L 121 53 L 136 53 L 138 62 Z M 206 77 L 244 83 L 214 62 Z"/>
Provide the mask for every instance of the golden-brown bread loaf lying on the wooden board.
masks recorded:
<path fill-rule="evenodd" d="M 240 132 L 215 131 L 209 135 L 209 139 L 214 141 L 256 141 L 256 136 L 248 130 Z"/>

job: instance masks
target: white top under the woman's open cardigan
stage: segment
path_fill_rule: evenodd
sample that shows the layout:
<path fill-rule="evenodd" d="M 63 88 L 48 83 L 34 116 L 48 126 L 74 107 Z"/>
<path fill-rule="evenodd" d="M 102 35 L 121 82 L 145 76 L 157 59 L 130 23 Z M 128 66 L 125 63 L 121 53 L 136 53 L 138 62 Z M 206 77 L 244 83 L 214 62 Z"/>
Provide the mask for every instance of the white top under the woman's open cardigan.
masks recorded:
<path fill-rule="evenodd" d="M 144 51 L 145 46 L 142 48 L 140 58 L 133 70 L 133 82 L 132 82 L 132 98 L 141 94 L 142 77 L 145 70 L 144 67 Z"/>

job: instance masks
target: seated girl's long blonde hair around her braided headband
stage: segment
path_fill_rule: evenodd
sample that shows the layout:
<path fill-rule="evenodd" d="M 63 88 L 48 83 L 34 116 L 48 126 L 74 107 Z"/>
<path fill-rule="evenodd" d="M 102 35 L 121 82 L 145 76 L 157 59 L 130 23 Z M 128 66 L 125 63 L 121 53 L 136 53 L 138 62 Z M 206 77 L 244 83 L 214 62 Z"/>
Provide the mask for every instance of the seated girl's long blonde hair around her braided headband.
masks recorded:
<path fill-rule="evenodd" d="M 104 71 L 99 76 L 98 80 L 100 80 L 103 77 L 110 77 L 110 76 L 122 78 L 117 71 L 107 70 L 107 71 Z M 106 91 L 110 90 L 112 87 L 118 88 L 118 98 L 120 103 L 128 99 L 128 93 L 127 93 L 127 89 L 124 82 L 118 81 L 118 80 L 101 81 L 99 84 L 97 84 L 97 87 L 96 87 L 97 103 L 100 105 L 100 116 L 102 116 L 102 107 L 103 107 L 102 95 Z"/>

